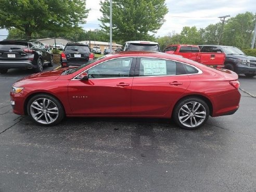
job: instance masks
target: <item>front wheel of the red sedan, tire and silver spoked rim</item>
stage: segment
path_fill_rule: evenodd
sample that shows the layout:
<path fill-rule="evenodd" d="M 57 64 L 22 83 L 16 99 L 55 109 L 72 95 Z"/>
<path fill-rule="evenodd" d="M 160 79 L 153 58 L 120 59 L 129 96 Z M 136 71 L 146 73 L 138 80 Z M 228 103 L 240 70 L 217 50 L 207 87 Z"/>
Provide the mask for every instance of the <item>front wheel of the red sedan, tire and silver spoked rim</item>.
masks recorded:
<path fill-rule="evenodd" d="M 36 102 L 36 104 L 34 102 Z M 43 103 L 45 103 L 45 105 Z M 30 118 L 36 124 L 43 126 L 58 124 L 65 116 L 65 111 L 60 101 L 48 94 L 33 96 L 28 101 L 27 111 Z"/>

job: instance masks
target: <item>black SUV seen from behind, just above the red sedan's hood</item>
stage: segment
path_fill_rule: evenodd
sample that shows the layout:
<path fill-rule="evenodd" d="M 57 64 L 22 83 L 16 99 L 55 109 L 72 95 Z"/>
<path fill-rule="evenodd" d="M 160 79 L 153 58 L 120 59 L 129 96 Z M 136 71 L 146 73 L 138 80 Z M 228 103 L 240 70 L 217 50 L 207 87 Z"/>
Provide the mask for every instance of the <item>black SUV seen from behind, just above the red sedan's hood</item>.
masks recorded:
<path fill-rule="evenodd" d="M 82 43 L 67 43 L 61 53 L 61 67 L 81 66 L 89 60 L 94 59 L 89 45 Z"/>

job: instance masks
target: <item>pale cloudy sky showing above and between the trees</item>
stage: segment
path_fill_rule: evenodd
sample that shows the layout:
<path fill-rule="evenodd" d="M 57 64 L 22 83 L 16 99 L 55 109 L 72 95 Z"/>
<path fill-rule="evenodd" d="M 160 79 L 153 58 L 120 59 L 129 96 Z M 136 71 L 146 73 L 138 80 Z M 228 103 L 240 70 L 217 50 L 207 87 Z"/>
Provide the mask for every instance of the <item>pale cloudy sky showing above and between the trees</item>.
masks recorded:
<path fill-rule="evenodd" d="M 87 0 L 86 7 L 91 8 L 87 23 L 83 24 L 84 30 L 99 29 L 98 18 L 101 16 L 99 11 L 100 0 Z M 230 15 L 231 17 L 246 11 L 256 12 L 255 0 L 185 0 L 173 1 L 166 0 L 165 3 L 169 9 L 165 16 L 165 23 L 158 30 L 156 36 L 164 36 L 168 33 L 180 33 L 185 26 L 205 28 L 211 23 L 220 21 L 218 17 Z M 0 35 L 7 35 L 6 30 L 0 30 Z M 1 36 L 0 36 L 1 39 Z"/>

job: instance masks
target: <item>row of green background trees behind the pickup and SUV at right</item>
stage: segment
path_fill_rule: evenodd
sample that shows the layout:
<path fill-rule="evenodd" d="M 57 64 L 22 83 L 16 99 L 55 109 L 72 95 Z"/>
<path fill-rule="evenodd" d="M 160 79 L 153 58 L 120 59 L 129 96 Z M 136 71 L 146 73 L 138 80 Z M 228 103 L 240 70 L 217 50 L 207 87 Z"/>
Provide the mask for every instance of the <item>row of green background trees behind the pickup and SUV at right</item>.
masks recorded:
<path fill-rule="evenodd" d="M 256 15 L 251 12 L 238 14 L 228 19 L 221 35 L 220 44 L 236 46 L 241 49 L 251 46 L 252 32 L 256 22 Z M 169 34 L 158 38 L 158 43 L 163 49 L 169 44 L 213 44 L 217 45 L 222 23 L 209 24 L 204 29 L 196 27 L 183 27 L 180 34 Z"/>

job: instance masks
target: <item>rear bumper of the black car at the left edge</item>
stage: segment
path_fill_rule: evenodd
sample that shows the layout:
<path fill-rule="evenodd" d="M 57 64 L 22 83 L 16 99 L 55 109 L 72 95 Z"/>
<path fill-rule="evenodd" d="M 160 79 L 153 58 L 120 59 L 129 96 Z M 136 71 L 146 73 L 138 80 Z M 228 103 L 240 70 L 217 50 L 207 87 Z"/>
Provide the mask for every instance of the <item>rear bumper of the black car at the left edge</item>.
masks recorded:
<path fill-rule="evenodd" d="M 1 61 L 0 69 L 14 69 L 14 68 L 36 68 L 29 60 L 26 61 Z"/>

